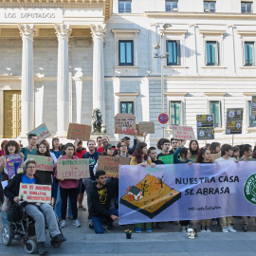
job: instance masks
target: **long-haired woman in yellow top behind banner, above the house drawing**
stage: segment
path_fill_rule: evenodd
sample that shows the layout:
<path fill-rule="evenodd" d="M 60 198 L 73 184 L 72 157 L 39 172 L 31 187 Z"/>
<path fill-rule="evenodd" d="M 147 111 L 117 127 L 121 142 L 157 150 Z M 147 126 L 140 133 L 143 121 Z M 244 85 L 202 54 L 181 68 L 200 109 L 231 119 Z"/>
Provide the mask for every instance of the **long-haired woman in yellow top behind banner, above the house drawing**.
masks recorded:
<path fill-rule="evenodd" d="M 145 142 L 139 142 L 136 146 L 134 156 L 130 161 L 130 165 L 141 165 L 146 167 L 151 165 L 155 167 L 155 163 L 152 163 L 150 156 L 148 156 L 147 144 Z M 152 223 L 137 223 L 134 225 L 136 232 L 141 233 L 142 226 L 145 226 L 146 232 L 152 232 Z"/>

